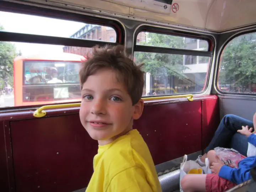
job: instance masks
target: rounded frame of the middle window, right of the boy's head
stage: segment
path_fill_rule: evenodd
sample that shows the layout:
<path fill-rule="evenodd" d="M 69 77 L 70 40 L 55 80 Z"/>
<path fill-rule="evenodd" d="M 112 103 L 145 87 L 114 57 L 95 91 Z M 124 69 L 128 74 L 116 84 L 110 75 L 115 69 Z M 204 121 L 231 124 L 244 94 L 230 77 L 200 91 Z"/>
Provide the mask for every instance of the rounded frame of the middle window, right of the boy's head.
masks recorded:
<path fill-rule="evenodd" d="M 149 32 L 149 33 L 158 33 L 158 34 L 165 34 L 171 36 L 179 36 L 179 37 L 188 37 L 188 38 L 195 38 L 200 39 L 208 42 L 208 50 L 189 50 L 189 49 L 176 49 L 176 48 L 164 48 L 164 47 L 154 47 L 154 46 L 144 46 L 137 44 L 138 34 L 140 32 Z M 160 26 L 150 26 L 150 25 L 142 25 L 137 28 L 134 33 L 133 38 L 133 55 L 135 52 L 147 52 L 147 53 L 165 53 L 165 54 L 179 54 L 179 55 L 191 55 L 191 56 L 202 56 L 202 57 L 210 57 L 208 70 L 206 71 L 206 82 L 204 89 L 200 92 L 192 92 L 192 93 L 178 93 L 178 94 L 168 94 L 168 95 L 159 95 L 159 96 L 170 96 L 170 95 L 186 95 L 186 94 L 204 94 L 209 86 L 209 79 L 210 79 L 210 71 L 213 66 L 213 56 L 214 56 L 214 49 L 215 49 L 215 39 L 211 35 L 202 34 L 201 32 L 194 33 L 188 31 L 180 31 L 175 29 L 168 29 L 162 28 Z M 154 97 L 151 96 L 143 96 L 143 97 Z"/>

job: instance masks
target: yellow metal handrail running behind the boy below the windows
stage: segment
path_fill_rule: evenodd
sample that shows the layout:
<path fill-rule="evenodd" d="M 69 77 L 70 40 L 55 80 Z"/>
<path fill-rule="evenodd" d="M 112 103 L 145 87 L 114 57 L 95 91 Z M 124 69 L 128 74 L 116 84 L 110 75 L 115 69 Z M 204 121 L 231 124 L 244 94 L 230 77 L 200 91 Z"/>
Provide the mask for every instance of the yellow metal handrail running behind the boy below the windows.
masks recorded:
<path fill-rule="evenodd" d="M 144 97 L 142 98 L 144 101 L 149 100 L 160 100 L 160 99 L 169 99 L 169 98 L 183 98 L 187 97 L 188 101 L 193 101 L 193 95 L 192 94 L 186 94 L 186 95 L 169 95 L 169 96 L 160 96 L 160 97 Z M 40 108 L 38 108 L 33 116 L 34 117 L 44 117 L 46 116 L 46 109 L 56 109 L 56 108 L 67 108 L 67 107 L 80 107 L 81 103 L 69 103 L 69 104 L 60 104 L 60 105 L 45 105 Z"/>

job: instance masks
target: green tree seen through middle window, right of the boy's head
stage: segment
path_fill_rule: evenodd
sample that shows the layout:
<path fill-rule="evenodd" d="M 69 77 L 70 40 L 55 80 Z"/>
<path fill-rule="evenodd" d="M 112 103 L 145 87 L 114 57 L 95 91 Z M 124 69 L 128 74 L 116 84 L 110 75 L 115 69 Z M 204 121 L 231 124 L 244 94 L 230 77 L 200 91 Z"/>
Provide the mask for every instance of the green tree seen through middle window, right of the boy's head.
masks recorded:
<path fill-rule="evenodd" d="M 139 44 L 154 47 L 185 48 L 185 39 L 183 37 L 148 33 L 146 34 L 146 40 L 146 42 Z M 167 84 L 174 88 L 174 77 L 187 79 L 182 73 L 187 69 L 187 67 L 183 65 L 183 55 L 135 52 L 134 57 L 139 63 L 145 64 L 145 72 L 153 75 L 155 79 L 164 82 L 165 88 Z"/>

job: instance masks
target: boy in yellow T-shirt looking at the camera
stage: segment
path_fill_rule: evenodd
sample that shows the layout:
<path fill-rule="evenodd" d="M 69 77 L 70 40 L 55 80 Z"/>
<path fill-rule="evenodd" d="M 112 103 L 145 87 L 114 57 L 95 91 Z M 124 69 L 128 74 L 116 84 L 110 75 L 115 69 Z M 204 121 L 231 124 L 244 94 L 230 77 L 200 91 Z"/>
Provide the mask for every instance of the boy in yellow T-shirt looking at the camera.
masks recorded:
<path fill-rule="evenodd" d="M 161 192 L 148 146 L 133 119 L 143 112 L 144 78 L 123 46 L 95 47 L 80 70 L 80 120 L 98 140 L 86 192 Z"/>

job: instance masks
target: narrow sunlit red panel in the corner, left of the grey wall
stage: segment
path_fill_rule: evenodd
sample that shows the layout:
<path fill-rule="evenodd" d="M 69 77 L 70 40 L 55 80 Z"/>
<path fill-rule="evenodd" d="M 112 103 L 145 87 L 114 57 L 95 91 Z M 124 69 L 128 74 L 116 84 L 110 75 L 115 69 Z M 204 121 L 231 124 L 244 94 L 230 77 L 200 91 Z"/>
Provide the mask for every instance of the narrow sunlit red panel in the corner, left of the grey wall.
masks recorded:
<path fill-rule="evenodd" d="M 218 96 L 209 96 L 202 100 L 202 150 L 213 138 L 220 123 Z"/>

